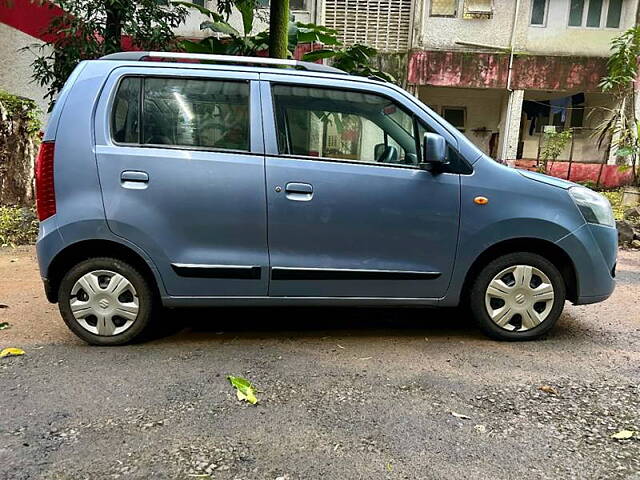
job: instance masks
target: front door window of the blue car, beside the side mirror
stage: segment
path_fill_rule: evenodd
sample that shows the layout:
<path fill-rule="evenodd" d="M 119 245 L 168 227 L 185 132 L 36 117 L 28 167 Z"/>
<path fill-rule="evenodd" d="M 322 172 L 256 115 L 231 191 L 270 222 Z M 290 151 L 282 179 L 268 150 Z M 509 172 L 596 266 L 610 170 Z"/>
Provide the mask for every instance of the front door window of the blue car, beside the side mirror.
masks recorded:
<path fill-rule="evenodd" d="M 276 85 L 281 154 L 417 166 L 413 116 L 380 95 Z"/>

